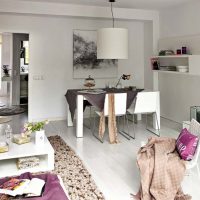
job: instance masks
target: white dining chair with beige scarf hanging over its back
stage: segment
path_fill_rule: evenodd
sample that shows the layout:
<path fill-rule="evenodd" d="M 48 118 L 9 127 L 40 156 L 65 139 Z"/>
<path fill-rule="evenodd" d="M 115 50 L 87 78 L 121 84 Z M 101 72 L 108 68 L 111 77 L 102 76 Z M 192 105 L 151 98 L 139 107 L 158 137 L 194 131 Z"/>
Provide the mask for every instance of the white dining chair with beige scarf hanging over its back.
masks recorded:
<path fill-rule="evenodd" d="M 116 117 L 121 117 L 124 116 L 126 118 L 126 124 L 127 124 L 127 129 L 128 133 L 126 133 L 124 130 L 119 131 L 120 134 L 122 134 L 124 137 L 127 139 L 130 139 L 129 137 L 129 127 L 128 127 L 128 118 L 126 117 L 126 102 L 127 102 L 127 93 L 115 93 L 114 94 L 114 108 L 115 108 L 115 116 Z M 109 107 L 108 107 L 108 94 L 106 94 L 105 97 L 105 102 L 104 102 L 104 116 L 108 117 L 109 116 Z M 101 112 L 100 111 L 95 111 L 95 113 L 100 117 Z M 93 125 L 93 135 L 100 140 L 103 143 L 103 139 L 100 139 L 99 136 L 95 135 L 95 116 L 94 116 L 94 125 Z M 117 122 L 117 121 L 116 121 Z"/>

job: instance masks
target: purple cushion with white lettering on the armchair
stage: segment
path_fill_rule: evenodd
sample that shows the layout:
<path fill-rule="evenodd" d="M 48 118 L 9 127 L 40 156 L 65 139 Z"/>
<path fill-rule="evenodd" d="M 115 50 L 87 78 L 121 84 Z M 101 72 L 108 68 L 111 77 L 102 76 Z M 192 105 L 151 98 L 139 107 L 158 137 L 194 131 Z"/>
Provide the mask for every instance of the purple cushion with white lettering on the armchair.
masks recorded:
<path fill-rule="evenodd" d="M 176 140 L 176 149 L 183 160 L 192 160 L 199 138 L 190 133 L 186 128 L 182 129 Z"/>

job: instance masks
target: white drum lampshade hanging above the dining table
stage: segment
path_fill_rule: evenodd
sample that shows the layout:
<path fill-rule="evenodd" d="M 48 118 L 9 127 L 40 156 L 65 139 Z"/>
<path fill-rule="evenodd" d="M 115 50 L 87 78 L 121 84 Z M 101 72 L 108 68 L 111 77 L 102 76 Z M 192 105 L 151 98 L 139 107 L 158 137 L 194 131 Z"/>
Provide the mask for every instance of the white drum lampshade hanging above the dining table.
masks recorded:
<path fill-rule="evenodd" d="M 128 30 L 102 28 L 97 31 L 97 59 L 128 59 Z"/>

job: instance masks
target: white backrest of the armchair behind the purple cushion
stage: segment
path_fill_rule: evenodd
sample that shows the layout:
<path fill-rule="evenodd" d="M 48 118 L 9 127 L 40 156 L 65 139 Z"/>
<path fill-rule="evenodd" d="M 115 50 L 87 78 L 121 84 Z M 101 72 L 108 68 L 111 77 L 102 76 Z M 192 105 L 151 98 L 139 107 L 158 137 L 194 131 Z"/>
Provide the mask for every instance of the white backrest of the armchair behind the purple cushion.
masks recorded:
<path fill-rule="evenodd" d="M 200 155 L 200 124 L 195 119 L 192 119 L 192 121 L 190 123 L 189 131 L 192 134 L 194 134 L 194 135 L 199 137 L 199 143 L 197 145 L 197 149 L 196 149 L 195 155 L 194 155 L 194 157 L 193 157 L 193 159 L 191 161 L 191 162 L 197 163 L 198 157 Z"/>

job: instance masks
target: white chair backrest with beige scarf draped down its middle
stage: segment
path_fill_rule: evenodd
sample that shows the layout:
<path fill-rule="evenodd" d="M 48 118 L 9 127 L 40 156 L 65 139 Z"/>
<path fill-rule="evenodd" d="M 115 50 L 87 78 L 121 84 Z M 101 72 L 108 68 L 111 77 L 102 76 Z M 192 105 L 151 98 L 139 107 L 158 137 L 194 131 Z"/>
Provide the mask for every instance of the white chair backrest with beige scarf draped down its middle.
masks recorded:
<path fill-rule="evenodd" d="M 126 99 L 127 93 L 115 93 L 114 104 L 115 104 L 115 115 L 125 115 L 126 113 Z M 106 94 L 104 102 L 104 115 L 108 116 L 108 94 Z"/>

